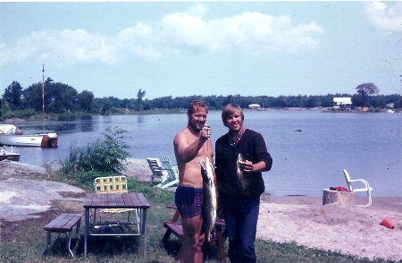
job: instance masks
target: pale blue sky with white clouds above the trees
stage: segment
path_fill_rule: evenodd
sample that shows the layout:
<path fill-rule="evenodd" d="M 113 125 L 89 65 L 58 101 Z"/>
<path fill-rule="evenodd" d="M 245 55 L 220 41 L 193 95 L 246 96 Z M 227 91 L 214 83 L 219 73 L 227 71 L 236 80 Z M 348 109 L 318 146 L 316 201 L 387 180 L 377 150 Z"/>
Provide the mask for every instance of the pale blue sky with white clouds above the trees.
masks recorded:
<path fill-rule="evenodd" d="M 0 95 L 45 80 L 96 98 L 402 92 L 402 2 L 0 2 Z"/>

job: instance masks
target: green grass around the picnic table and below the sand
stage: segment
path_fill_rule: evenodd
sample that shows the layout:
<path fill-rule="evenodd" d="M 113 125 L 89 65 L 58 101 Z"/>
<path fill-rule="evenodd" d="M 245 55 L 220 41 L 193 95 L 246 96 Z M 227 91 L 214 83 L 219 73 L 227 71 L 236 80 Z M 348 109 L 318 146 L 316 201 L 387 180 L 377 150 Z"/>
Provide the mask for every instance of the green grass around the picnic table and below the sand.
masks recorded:
<path fill-rule="evenodd" d="M 1 222 L 1 262 L 175 262 L 174 257 L 180 250 L 181 242 L 171 236 L 169 242 L 161 244 L 163 221 L 172 218 L 172 209 L 167 205 L 174 204 L 174 193 L 153 188 L 149 182 L 138 182 L 129 179 L 129 190 L 143 192 L 151 208 L 147 212 L 147 257 L 143 257 L 144 238 L 109 238 L 90 237 L 88 240 L 88 257 L 83 258 L 83 225 L 81 226 L 80 240 L 73 235 L 72 244 L 74 259 L 71 259 L 66 249 L 66 238 L 62 235 L 59 241 L 49 248 L 45 257 L 41 251 L 46 243 L 46 225 L 49 217 L 55 217 L 62 211 L 71 209 L 83 213 L 82 203 L 54 202 L 52 208 L 45 213 L 38 214 L 38 218 L 21 222 Z M 296 234 L 296 233 L 295 233 Z M 52 241 L 54 234 L 52 234 Z M 226 252 L 228 244 L 225 244 Z M 278 243 L 257 240 L 255 249 L 258 262 L 393 262 L 386 259 L 358 259 L 355 256 L 343 255 L 337 251 L 309 249 L 298 246 L 296 243 Z M 219 253 L 213 248 L 205 262 L 220 262 Z"/>

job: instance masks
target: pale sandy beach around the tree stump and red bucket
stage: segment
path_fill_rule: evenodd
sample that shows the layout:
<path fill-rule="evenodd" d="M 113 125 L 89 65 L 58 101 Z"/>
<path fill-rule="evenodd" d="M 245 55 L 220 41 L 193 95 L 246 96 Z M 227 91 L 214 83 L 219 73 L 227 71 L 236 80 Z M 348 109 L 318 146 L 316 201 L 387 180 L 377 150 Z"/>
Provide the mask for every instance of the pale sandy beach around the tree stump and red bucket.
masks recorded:
<path fill-rule="evenodd" d="M 385 216 L 395 223 L 393 229 L 380 225 Z M 402 260 L 402 197 L 373 197 L 373 205 L 363 208 L 322 206 L 319 197 L 271 196 L 262 201 L 257 237 L 361 258 Z"/>

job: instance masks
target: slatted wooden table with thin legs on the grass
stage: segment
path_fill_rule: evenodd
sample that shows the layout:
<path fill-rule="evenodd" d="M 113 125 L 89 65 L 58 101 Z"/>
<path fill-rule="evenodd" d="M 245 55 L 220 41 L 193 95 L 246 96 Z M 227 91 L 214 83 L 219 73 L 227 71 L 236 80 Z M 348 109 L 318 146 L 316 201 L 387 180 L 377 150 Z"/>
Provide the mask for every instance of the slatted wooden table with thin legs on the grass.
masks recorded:
<path fill-rule="evenodd" d="M 123 193 L 107 193 L 107 194 L 98 194 L 98 193 L 88 193 L 85 200 L 84 205 L 85 208 L 85 240 L 84 240 L 84 258 L 87 258 L 87 242 L 88 235 L 137 235 L 144 236 L 144 256 L 147 254 L 147 208 L 150 208 L 150 205 L 147 199 L 144 197 L 142 193 L 139 192 L 123 192 Z M 136 231 L 130 231 L 127 233 L 102 233 L 96 232 L 91 233 L 90 228 L 99 228 L 106 224 L 105 222 L 95 222 L 91 221 L 91 209 L 130 209 L 134 208 L 138 211 L 138 216 L 135 222 L 115 222 L 113 224 L 117 225 L 138 225 L 136 227 Z M 96 211 L 96 210 L 94 210 Z M 130 230 L 130 228 L 127 228 Z"/>

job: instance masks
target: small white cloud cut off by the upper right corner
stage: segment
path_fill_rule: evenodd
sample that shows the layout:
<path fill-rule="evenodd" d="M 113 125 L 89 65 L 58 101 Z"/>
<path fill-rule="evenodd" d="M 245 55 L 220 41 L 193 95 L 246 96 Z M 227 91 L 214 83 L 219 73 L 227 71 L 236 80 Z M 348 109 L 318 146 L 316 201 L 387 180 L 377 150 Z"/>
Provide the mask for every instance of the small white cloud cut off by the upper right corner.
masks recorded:
<path fill-rule="evenodd" d="M 402 32 L 402 3 L 392 4 L 394 5 L 389 7 L 381 2 L 373 2 L 365 9 L 368 21 L 386 34 Z"/>

